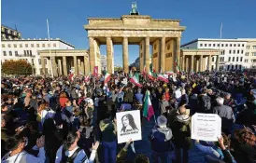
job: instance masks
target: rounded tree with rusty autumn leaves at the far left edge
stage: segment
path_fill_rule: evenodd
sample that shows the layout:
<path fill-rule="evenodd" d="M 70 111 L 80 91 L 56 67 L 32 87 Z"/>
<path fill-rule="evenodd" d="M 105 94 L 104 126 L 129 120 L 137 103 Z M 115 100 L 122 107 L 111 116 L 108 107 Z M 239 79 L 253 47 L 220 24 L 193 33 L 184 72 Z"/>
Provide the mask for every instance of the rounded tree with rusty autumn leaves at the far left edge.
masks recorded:
<path fill-rule="evenodd" d="M 6 75 L 32 75 L 32 66 L 25 60 L 5 61 L 2 73 Z"/>

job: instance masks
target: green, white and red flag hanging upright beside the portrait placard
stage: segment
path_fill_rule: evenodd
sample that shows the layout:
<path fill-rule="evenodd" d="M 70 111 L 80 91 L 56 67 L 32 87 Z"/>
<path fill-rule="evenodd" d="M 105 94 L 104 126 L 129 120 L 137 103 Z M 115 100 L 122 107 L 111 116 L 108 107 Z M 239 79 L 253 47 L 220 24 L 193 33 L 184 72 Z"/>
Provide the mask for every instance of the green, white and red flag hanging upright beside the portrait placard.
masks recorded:
<path fill-rule="evenodd" d="M 143 116 L 146 117 L 149 121 L 152 115 L 154 115 L 154 109 L 149 98 L 149 90 L 147 90 L 146 96 L 144 99 Z"/>

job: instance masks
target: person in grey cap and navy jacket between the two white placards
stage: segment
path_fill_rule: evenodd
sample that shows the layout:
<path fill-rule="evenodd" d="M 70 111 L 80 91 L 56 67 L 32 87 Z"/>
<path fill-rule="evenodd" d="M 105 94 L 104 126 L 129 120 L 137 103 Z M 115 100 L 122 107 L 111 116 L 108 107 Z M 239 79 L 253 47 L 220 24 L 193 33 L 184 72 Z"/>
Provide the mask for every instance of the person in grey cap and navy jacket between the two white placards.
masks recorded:
<path fill-rule="evenodd" d="M 157 126 L 151 130 L 149 141 L 151 142 L 153 162 L 157 163 L 160 158 L 167 162 L 168 153 L 173 149 L 171 139 L 172 130 L 166 127 L 167 119 L 164 115 L 157 118 Z"/>

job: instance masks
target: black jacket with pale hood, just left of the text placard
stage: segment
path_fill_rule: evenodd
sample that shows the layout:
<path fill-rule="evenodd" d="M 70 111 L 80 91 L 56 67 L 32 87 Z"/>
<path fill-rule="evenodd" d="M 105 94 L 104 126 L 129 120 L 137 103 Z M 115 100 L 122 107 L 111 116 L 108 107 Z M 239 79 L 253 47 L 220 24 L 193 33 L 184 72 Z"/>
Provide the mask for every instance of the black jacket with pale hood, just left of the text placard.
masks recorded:
<path fill-rule="evenodd" d="M 176 115 L 171 124 L 174 143 L 178 148 L 192 148 L 191 117 L 190 115 Z"/>

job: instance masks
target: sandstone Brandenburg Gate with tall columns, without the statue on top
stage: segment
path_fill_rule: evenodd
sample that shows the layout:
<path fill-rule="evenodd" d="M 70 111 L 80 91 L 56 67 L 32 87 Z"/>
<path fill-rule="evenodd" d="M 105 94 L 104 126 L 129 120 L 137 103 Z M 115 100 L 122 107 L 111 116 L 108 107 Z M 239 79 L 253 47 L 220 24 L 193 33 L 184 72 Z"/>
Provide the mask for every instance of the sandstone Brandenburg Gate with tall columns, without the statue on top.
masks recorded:
<path fill-rule="evenodd" d="M 90 70 L 100 67 L 100 45 L 107 45 L 107 71 L 114 72 L 113 45 L 122 45 L 123 70 L 129 72 L 128 45 L 139 45 L 140 71 L 151 61 L 157 72 L 175 71 L 175 61 L 180 61 L 180 38 L 185 30 L 180 20 L 152 19 L 147 15 L 123 15 L 121 19 L 89 18 L 84 25 L 90 44 Z M 99 71 L 100 68 L 99 68 Z"/>

